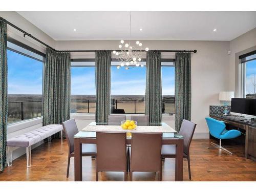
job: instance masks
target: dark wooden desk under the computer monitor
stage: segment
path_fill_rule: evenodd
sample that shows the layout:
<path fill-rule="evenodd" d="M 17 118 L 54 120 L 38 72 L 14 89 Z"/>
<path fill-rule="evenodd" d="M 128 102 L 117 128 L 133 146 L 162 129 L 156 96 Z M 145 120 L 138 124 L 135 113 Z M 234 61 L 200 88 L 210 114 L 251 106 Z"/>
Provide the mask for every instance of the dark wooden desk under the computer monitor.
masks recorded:
<path fill-rule="evenodd" d="M 245 130 L 245 158 L 256 161 L 256 123 L 228 119 L 222 115 L 209 115 L 211 118 L 224 121 L 235 128 Z"/>

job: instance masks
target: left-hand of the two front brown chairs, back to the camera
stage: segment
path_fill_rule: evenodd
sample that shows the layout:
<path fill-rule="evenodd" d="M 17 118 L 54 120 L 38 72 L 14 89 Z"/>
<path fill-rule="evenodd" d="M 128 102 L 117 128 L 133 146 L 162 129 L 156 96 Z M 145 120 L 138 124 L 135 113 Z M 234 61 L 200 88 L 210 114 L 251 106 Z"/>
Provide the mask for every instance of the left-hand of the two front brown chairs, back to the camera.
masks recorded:
<path fill-rule="evenodd" d="M 96 132 L 96 181 L 99 172 L 124 172 L 126 181 L 126 133 Z"/>

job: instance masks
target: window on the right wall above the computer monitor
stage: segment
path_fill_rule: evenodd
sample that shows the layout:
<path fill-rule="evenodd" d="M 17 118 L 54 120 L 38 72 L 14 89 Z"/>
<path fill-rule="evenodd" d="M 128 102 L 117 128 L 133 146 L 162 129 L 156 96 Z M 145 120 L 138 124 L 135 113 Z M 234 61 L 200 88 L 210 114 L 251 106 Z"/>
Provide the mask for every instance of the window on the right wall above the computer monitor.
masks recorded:
<path fill-rule="evenodd" d="M 256 54 L 242 58 L 244 66 L 244 96 L 256 98 Z"/>

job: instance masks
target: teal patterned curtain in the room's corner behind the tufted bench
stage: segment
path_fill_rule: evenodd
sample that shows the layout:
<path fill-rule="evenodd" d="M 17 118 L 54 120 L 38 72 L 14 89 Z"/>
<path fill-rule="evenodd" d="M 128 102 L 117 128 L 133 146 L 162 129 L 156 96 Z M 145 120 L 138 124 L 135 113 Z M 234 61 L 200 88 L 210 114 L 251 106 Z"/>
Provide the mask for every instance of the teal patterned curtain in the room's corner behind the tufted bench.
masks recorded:
<path fill-rule="evenodd" d="M 70 119 L 70 53 L 47 48 L 44 75 L 43 124 Z"/>

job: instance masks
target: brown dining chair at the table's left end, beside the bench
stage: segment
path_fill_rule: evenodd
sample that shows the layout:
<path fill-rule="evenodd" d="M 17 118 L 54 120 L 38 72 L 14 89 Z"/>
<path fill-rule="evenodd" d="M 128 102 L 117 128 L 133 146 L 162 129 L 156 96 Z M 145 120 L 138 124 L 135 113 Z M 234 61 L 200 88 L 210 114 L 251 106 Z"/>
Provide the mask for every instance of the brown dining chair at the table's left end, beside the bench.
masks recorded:
<path fill-rule="evenodd" d="M 69 177 L 69 165 L 70 158 L 75 156 L 74 153 L 74 135 L 79 131 L 76 126 L 75 119 L 70 119 L 62 122 L 63 130 L 68 140 L 69 155 L 68 155 L 68 167 L 67 167 L 67 178 Z M 95 156 L 97 155 L 96 144 L 82 144 L 82 156 Z"/>

